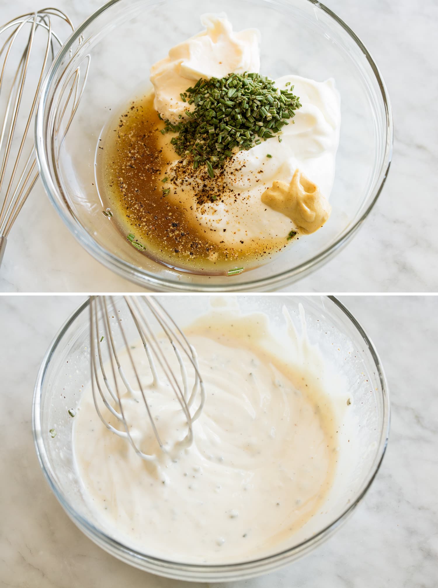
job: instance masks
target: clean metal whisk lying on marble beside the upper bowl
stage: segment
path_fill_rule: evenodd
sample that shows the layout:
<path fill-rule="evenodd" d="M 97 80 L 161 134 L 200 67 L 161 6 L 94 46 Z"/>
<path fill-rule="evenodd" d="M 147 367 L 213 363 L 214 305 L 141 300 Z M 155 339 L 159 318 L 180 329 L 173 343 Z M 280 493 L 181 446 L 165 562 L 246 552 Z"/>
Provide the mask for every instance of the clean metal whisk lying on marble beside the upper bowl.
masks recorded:
<path fill-rule="evenodd" d="M 0 265 L 9 231 L 38 179 L 32 119 L 48 66 L 62 45 L 53 30 L 59 19 L 74 30 L 56 8 L 23 14 L 0 27 Z M 22 132 L 20 109 L 28 116 Z"/>

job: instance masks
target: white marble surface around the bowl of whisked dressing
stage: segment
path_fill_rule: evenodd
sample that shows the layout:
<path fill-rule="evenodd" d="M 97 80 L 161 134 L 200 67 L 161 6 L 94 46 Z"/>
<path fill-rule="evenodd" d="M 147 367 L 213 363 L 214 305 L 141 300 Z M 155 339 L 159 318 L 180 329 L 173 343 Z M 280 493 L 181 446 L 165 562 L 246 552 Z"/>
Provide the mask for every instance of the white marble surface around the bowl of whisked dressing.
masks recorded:
<path fill-rule="evenodd" d="M 43 479 L 31 432 L 33 384 L 82 297 L 0 298 L 0 587 L 183 588 L 109 556 L 75 527 Z M 438 578 L 438 298 L 343 297 L 368 331 L 392 393 L 382 468 L 328 543 L 230 588 L 434 588 Z M 225 584 L 199 584 L 225 588 Z"/>

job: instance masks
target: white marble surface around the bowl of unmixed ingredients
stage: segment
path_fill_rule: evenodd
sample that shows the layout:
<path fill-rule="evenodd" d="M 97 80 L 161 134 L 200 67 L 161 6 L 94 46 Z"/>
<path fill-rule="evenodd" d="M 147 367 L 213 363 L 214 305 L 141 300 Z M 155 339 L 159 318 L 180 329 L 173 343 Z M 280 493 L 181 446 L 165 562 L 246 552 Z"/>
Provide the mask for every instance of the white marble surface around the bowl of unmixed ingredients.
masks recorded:
<path fill-rule="evenodd" d="M 101 0 L 57 0 L 79 23 Z M 388 85 L 395 119 L 389 179 L 365 226 L 335 259 L 285 288 L 300 292 L 438 290 L 435 0 L 328 0 L 363 39 Z M 1 19 L 39 8 L 39 0 L 0 0 Z M 137 291 L 90 257 L 35 187 L 9 236 L 2 292 Z"/>

